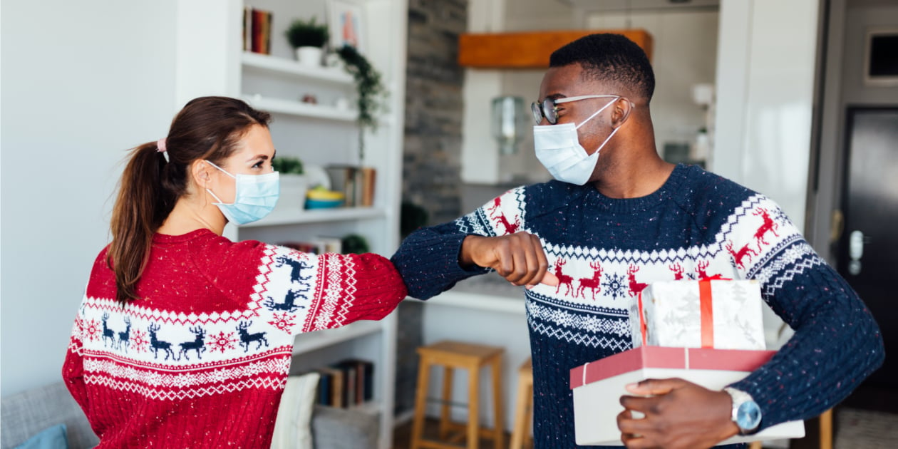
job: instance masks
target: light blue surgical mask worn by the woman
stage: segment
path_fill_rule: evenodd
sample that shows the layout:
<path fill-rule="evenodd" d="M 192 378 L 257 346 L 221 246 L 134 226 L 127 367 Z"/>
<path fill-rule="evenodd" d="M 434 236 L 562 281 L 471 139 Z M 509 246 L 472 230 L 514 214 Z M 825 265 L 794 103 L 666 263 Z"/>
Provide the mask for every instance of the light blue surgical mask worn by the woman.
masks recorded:
<path fill-rule="evenodd" d="M 225 169 L 219 167 L 215 163 L 206 161 L 218 170 L 225 172 Z M 218 207 L 218 210 L 225 214 L 228 221 L 234 225 L 246 225 L 254 221 L 259 221 L 268 216 L 277 204 L 277 197 L 280 194 L 280 175 L 277 172 L 265 174 L 242 174 L 233 175 L 225 172 L 226 175 L 235 180 L 233 189 L 233 203 L 222 202 L 216 194 L 210 190 L 209 195 L 216 198 L 217 203 L 212 203 Z"/>

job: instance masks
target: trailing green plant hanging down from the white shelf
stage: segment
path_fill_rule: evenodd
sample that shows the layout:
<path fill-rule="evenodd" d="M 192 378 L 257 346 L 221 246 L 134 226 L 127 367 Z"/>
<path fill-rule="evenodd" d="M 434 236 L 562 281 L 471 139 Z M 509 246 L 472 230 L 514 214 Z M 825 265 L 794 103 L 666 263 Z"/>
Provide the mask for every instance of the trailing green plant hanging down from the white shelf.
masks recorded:
<path fill-rule="evenodd" d="M 337 50 L 337 54 L 343 60 L 346 71 L 356 80 L 358 124 L 363 128 L 358 133 L 358 153 L 359 158 L 363 158 L 365 136 L 362 131 L 364 128 L 377 128 L 377 114 L 386 111 L 389 92 L 383 85 L 381 73 L 355 47 L 344 45 Z"/>

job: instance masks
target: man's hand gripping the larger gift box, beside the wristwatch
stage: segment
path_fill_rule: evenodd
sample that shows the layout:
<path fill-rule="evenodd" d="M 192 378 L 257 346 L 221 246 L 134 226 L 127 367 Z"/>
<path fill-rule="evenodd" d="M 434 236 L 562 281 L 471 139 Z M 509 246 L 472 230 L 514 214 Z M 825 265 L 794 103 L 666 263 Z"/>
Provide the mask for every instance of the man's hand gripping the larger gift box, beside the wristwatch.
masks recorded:
<path fill-rule="evenodd" d="M 682 379 L 647 379 L 627 391 L 648 398 L 622 396 L 618 415 L 621 441 L 630 449 L 695 449 L 711 447 L 739 433 L 731 419 L 733 401 Z M 633 418 L 638 411 L 645 418 Z"/>

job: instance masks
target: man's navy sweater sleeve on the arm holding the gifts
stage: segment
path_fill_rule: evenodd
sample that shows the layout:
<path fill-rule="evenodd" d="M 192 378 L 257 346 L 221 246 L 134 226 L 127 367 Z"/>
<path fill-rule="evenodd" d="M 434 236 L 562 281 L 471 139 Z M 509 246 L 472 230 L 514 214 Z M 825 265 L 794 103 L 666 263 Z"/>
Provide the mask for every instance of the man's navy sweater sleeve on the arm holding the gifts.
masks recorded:
<path fill-rule="evenodd" d="M 733 386 L 761 406 L 762 428 L 813 418 L 882 365 L 882 335 L 857 293 L 779 206 L 759 196 L 743 218 L 725 244 L 740 274 L 760 281 L 764 301 L 795 335 L 770 362 Z"/>

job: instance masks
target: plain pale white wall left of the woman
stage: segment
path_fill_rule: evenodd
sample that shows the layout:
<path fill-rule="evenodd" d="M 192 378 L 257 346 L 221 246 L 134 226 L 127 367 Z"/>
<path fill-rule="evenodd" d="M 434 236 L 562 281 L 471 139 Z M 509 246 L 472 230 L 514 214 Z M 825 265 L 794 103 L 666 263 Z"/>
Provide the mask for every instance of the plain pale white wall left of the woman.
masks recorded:
<path fill-rule="evenodd" d="M 60 380 L 129 147 L 173 114 L 175 0 L 2 3 L 2 395 Z"/>

